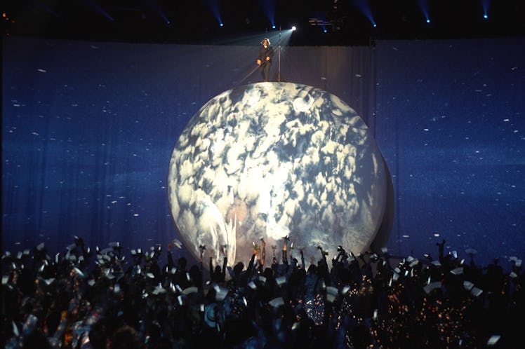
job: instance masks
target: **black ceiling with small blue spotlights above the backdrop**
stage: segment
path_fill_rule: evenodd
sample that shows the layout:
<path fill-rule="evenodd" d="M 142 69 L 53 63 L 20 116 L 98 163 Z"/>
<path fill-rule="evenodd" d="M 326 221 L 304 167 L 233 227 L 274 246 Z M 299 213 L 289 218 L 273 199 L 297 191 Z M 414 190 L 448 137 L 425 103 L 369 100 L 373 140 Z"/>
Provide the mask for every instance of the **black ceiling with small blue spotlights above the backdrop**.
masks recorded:
<path fill-rule="evenodd" d="M 482 4 L 489 4 L 487 19 Z M 7 0 L 2 6 L 4 36 L 52 39 L 228 43 L 292 25 L 295 46 L 525 36 L 525 0 Z"/>

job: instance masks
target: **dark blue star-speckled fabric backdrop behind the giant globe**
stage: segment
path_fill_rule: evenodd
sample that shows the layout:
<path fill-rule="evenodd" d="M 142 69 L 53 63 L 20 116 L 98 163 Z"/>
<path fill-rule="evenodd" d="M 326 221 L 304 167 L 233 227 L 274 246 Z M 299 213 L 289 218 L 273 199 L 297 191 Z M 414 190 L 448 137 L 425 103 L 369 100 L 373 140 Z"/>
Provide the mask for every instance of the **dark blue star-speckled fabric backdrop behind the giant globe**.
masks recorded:
<path fill-rule="evenodd" d="M 173 146 L 208 100 L 260 81 L 256 46 L 4 39 L 2 249 L 177 238 Z M 286 47 L 273 80 L 338 95 L 392 173 L 392 254 L 525 251 L 525 40 Z M 183 253 L 183 252 L 181 252 Z"/>

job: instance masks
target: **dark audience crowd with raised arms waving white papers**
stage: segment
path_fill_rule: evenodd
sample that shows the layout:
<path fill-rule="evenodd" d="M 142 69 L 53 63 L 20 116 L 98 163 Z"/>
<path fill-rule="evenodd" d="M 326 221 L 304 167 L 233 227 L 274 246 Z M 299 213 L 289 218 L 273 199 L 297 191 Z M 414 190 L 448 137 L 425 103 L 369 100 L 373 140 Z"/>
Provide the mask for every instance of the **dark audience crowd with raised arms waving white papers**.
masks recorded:
<path fill-rule="evenodd" d="M 4 348 L 513 348 L 525 329 L 524 273 L 512 257 L 394 258 L 343 246 L 305 264 L 286 254 L 189 266 L 177 249 L 91 250 L 81 238 L 2 256 Z M 262 247 L 262 248 L 261 248 Z M 224 247 L 226 248 L 226 247 Z M 225 256 L 225 252 L 222 252 Z"/>

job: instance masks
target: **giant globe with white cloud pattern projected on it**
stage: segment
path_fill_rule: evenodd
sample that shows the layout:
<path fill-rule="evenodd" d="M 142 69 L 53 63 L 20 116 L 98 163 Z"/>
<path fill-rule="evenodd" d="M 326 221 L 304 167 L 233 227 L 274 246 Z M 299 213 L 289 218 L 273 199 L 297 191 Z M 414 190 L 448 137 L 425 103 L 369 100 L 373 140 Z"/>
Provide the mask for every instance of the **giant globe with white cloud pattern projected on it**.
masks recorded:
<path fill-rule="evenodd" d="M 253 244 L 305 257 L 320 246 L 354 254 L 385 212 L 387 169 L 370 130 L 335 95 L 295 83 L 255 83 L 214 97 L 178 138 L 168 172 L 173 220 L 187 249 L 246 263 Z M 271 247 L 274 246 L 274 249 Z M 280 258 L 280 256 L 277 256 Z"/>

